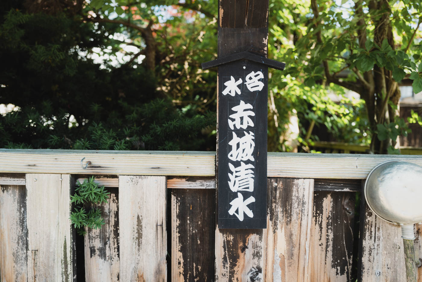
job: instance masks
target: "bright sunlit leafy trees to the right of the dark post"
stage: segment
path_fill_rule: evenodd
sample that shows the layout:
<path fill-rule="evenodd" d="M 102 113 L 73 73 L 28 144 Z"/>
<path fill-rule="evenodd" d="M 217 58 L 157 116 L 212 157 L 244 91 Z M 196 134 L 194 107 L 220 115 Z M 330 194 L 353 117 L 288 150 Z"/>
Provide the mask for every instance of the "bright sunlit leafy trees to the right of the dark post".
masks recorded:
<path fill-rule="evenodd" d="M 287 65 L 283 73 L 272 71 L 274 75 L 270 82 L 279 93 L 302 97 L 306 102 L 307 107 L 303 112 L 293 103 L 277 105 L 275 101 L 278 112 L 291 112 L 293 109 L 298 113 L 303 112 L 303 118 L 299 117 L 302 125 L 299 126 L 302 129 L 299 140 L 305 136 L 303 132 L 309 128 L 309 120 L 314 120 L 316 128 L 324 130 L 326 127 L 331 138 L 335 136 L 335 141 L 360 140 L 374 146 L 379 145 L 379 139 L 372 136 L 377 134 L 379 128 L 385 129 L 381 130 L 381 136 L 389 132 L 385 136 L 390 143 L 388 138 L 394 137 L 395 133 L 406 132 L 401 130 L 399 121 L 392 116 L 392 103 L 384 103 L 389 108 L 392 123 L 391 128 L 385 127 L 388 122 L 384 120 L 386 115 L 381 105 L 385 99 L 397 104 L 400 92 L 394 90 L 395 82 L 405 77 L 413 80 L 416 93 L 422 90 L 422 45 L 415 40 L 422 35 L 419 25 L 422 21 L 422 5 L 418 1 L 387 1 L 385 5 L 382 1 L 353 2 L 270 0 L 269 54 Z M 389 25 L 391 32 L 387 32 Z M 383 79 L 385 84 L 381 82 Z M 280 83 L 279 80 L 287 83 Z M 298 85 L 292 87 L 292 81 L 298 81 Z M 337 103 L 340 107 L 336 107 L 335 103 L 328 102 L 321 107 L 321 111 L 319 107 L 312 106 L 314 111 L 308 112 L 310 105 L 315 105 L 312 98 L 315 93 L 320 99 L 325 99 L 332 92 L 346 92 L 337 85 L 359 93 L 364 100 L 354 107 L 353 118 L 349 122 L 344 120 L 344 114 L 341 116 L 337 112 L 333 115 L 332 110 L 347 109 L 347 103 Z M 390 89 L 392 93 L 389 93 Z M 387 98 L 386 93 L 390 94 Z M 300 104 L 303 105 L 303 102 Z M 281 108 L 281 105 L 287 106 L 287 109 Z M 330 120 L 333 123 L 330 124 Z M 350 134 L 352 123 L 355 135 Z M 344 131 L 349 133 L 344 134 Z M 327 138 L 321 133 L 314 135 L 313 132 L 310 137 Z M 372 152 L 384 153 L 374 146 L 371 146 Z"/>

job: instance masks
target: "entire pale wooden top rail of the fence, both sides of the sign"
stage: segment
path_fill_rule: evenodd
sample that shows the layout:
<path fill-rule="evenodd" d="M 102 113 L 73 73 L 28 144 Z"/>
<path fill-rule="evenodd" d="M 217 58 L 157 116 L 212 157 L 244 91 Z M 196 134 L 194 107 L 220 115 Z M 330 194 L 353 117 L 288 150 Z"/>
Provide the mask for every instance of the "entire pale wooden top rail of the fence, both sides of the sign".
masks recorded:
<path fill-rule="evenodd" d="M 87 161 L 92 164 L 84 170 Z M 214 176 L 215 152 L 0 149 L 2 173 Z M 377 164 L 397 160 L 422 166 L 422 156 L 268 153 L 268 177 L 365 179 Z"/>

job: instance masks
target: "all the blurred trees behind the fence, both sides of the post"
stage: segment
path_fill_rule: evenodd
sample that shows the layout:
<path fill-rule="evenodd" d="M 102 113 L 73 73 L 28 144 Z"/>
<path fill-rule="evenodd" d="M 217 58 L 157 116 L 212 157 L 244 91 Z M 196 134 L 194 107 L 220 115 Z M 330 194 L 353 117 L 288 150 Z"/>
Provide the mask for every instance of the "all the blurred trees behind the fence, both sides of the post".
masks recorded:
<path fill-rule="evenodd" d="M 5 148 L 215 150 L 216 0 L 0 4 Z M 398 153 L 398 82 L 422 90 L 417 1 L 270 0 L 268 151 Z M 3 106 L 4 107 L 4 106 Z M 8 112 L 8 113 L 6 113 Z M 417 123 L 414 116 L 411 122 Z"/>

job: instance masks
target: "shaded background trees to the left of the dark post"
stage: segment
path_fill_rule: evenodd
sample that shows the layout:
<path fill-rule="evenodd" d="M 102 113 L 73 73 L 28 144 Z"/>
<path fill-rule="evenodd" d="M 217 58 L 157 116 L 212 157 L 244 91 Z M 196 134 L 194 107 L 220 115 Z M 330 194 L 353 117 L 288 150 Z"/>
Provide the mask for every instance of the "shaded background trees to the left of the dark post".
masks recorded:
<path fill-rule="evenodd" d="M 207 52 L 194 51 L 212 47 L 197 39 L 207 23 L 183 14 L 158 23 L 155 5 L 96 5 L 2 2 L 0 103 L 16 107 L 0 118 L 0 147 L 215 150 L 215 110 L 203 105 L 215 74 L 198 73 Z"/>

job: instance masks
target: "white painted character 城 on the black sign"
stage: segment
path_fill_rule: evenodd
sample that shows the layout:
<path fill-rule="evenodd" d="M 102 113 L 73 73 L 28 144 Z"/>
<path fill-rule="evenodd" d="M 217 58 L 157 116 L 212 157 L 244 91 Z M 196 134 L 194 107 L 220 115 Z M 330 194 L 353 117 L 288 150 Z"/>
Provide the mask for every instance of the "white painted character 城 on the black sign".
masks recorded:
<path fill-rule="evenodd" d="M 232 151 L 230 151 L 228 158 L 232 161 L 254 161 L 254 133 L 249 131 L 243 131 L 245 136 L 239 138 L 236 133 L 233 132 L 233 139 L 229 142 L 229 145 L 232 146 Z"/>

